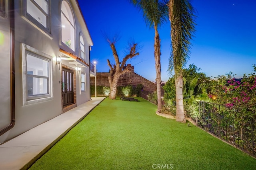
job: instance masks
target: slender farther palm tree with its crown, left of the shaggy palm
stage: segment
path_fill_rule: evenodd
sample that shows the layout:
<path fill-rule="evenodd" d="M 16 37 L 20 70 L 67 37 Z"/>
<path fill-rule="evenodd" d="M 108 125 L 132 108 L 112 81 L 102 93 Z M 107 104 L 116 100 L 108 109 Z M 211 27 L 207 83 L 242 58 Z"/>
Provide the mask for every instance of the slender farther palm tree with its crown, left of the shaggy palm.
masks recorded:
<path fill-rule="evenodd" d="M 158 26 L 166 22 L 168 16 L 168 6 L 164 1 L 159 0 L 130 0 L 139 10 L 143 12 L 143 17 L 150 28 L 154 28 L 154 58 L 156 66 L 156 90 L 157 90 L 157 108 L 162 109 L 161 94 L 161 63 L 160 63 L 160 37 Z"/>

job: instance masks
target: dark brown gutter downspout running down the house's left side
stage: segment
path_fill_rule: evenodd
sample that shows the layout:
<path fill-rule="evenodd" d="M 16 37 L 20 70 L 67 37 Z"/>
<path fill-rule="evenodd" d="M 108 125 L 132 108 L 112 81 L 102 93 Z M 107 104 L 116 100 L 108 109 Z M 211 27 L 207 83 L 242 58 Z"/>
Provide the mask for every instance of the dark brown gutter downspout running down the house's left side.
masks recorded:
<path fill-rule="evenodd" d="M 14 37 L 14 0 L 9 1 L 10 15 L 10 102 L 11 120 L 10 125 L 0 131 L 0 136 L 12 129 L 15 125 L 15 37 Z"/>

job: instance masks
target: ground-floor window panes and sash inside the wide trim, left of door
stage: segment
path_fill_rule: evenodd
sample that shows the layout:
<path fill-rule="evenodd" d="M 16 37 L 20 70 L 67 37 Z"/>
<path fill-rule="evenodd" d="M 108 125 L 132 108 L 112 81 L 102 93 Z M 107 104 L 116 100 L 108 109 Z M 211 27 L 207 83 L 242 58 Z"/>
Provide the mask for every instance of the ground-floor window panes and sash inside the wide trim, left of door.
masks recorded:
<path fill-rule="evenodd" d="M 50 60 L 26 51 L 26 85 L 27 100 L 50 96 Z"/>

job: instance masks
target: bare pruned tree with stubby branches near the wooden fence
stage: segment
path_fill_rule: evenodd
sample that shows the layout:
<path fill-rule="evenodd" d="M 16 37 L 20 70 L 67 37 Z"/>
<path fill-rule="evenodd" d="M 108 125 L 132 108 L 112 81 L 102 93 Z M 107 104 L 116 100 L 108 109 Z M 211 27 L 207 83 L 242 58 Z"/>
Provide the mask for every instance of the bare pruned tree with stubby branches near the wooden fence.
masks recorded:
<path fill-rule="evenodd" d="M 116 52 L 116 38 L 112 39 L 110 41 L 110 39 L 107 39 L 112 52 L 113 52 L 113 56 L 114 56 L 114 60 L 115 60 L 115 64 L 110 64 L 110 61 L 108 61 L 108 66 L 110 67 L 110 74 L 108 76 L 108 81 L 110 84 L 110 94 L 109 94 L 109 98 L 110 99 L 116 99 L 116 90 L 117 90 L 117 82 L 119 77 L 126 73 L 126 72 L 130 72 L 129 68 L 126 67 L 124 68 L 126 61 L 128 59 L 132 59 L 133 57 L 139 55 L 138 53 L 138 44 L 134 43 L 134 42 L 130 42 L 128 44 L 128 48 L 129 51 L 127 52 L 127 55 L 123 58 L 122 62 L 120 62 L 118 54 Z"/>

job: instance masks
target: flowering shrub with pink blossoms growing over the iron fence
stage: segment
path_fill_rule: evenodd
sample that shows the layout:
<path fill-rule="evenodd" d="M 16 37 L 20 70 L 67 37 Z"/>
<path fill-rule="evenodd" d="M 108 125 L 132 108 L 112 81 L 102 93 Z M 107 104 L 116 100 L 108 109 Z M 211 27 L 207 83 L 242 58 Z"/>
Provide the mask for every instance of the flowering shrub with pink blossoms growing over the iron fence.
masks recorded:
<path fill-rule="evenodd" d="M 253 67 L 256 72 L 256 66 Z M 214 122 L 224 129 L 229 127 L 227 123 L 230 123 L 233 131 L 229 132 L 230 137 L 226 136 L 226 140 L 250 153 L 256 151 L 256 146 L 253 145 L 256 143 L 255 72 L 248 76 L 244 74 L 242 79 L 232 78 L 230 74 L 218 76 L 208 84 L 208 96 L 216 96 L 215 102 L 222 104 L 211 113 L 211 119 L 216 118 Z"/>

